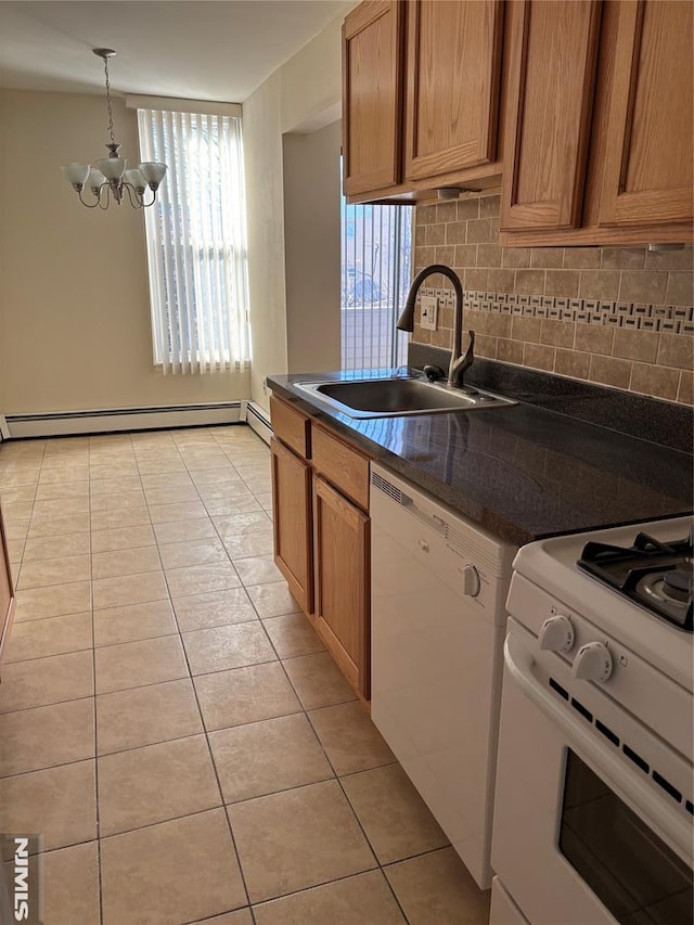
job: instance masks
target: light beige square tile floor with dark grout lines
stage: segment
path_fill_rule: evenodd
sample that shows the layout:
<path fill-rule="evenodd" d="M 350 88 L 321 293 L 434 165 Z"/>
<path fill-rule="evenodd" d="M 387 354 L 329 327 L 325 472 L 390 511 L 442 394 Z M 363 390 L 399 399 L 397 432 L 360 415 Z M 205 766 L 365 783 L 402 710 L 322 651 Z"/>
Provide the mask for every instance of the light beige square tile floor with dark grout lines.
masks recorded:
<path fill-rule="evenodd" d="M 481 894 L 272 562 L 246 426 L 0 449 L 0 832 L 46 925 L 479 925 Z"/>

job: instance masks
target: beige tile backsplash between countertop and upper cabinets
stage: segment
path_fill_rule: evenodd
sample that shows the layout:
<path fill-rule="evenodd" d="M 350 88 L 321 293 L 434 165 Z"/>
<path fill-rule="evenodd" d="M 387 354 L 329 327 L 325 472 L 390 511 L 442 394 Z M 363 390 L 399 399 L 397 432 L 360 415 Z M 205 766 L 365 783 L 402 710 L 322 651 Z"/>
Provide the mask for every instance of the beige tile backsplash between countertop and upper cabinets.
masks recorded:
<path fill-rule="evenodd" d="M 501 247 L 494 195 L 417 206 L 414 262 L 455 270 L 479 356 L 694 404 L 691 246 Z M 448 280 L 420 295 L 439 296 L 438 329 L 417 311 L 412 339 L 450 349 Z"/>

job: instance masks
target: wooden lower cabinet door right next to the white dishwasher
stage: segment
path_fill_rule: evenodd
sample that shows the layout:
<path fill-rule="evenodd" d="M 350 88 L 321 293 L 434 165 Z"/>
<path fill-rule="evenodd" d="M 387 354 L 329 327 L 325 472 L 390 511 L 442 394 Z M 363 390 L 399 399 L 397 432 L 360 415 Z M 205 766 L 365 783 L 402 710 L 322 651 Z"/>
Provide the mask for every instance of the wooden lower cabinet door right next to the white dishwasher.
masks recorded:
<path fill-rule="evenodd" d="M 316 624 L 352 688 L 371 695 L 369 517 L 313 478 Z"/>

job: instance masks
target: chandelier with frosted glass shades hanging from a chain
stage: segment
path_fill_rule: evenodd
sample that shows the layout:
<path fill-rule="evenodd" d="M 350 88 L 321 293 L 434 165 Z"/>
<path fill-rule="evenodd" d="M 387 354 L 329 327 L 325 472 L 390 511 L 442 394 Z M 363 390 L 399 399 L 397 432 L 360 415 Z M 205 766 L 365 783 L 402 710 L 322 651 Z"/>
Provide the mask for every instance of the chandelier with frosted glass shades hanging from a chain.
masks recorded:
<path fill-rule="evenodd" d="M 120 145 L 116 142 L 113 133 L 113 110 L 111 106 L 111 81 L 108 79 L 108 59 L 115 55 L 112 48 L 92 49 L 94 54 L 104 60 L 104 73 L 106 75 L 106 105 L 108 107 L 108 134 L 111 143 L 106 144 L 108 157 L 97 160 L 97 166 L 89 164 L 66 164 L 61 167 L 63 176 L 72 184 L 79 196 L 79 201 L 87 208 L 107 209 L 112 202 L 120 205 L 126 195 L 133 208 L 143 208 L 154 205 L 156 191 L 164 180 L 166 164 L 157 164 L 154 160 L 145 160 L 138 167 L 127 170 L 128 162 L 120 157 L 118 152 Z M 85 200 L 82 191 L 85 187 L 93 198 Z M 146 202 L 147 188 L 152 192 L 152 198 Z"/>

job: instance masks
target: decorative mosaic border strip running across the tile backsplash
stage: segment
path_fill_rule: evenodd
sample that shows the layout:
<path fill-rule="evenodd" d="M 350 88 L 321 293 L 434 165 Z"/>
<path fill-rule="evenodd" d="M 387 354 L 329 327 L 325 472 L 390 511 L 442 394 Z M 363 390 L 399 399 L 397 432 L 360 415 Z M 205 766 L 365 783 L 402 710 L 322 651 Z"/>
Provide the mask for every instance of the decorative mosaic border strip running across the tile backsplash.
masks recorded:
<path fill-rule="evenodd" d="M 449 288 L 422 288 L 425 296 L 437 296 L 439 305 L 452 308 Z M 630 301 L 600 301 L 589 298 L 516 295 L 514 293 L 465 292 L 464 309 L 601 324 L 639 331 L 694 334 L 694 308 L 679 305 L 642 305 Z"/>

